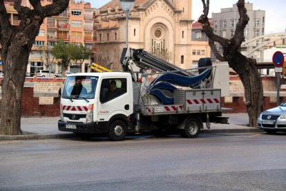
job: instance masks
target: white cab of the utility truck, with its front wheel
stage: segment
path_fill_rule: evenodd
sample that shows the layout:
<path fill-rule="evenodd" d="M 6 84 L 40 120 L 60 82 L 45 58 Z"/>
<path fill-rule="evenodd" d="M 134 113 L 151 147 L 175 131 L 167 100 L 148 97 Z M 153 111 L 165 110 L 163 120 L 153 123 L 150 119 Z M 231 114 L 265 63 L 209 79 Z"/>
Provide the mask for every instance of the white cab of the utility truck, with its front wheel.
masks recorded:
<path fill-rule="evenodd" d="M 79 81 L 81 84 L 77 84 Z M 112 89 L 111 84 L 115 85 Z M 79 135 L 108 134 L 120 140 L 126 135 L 126 119 L 132 113 L 130 73 L 71 74 L 61 95 L 58 128 Z"/>

